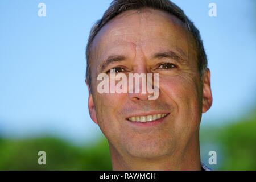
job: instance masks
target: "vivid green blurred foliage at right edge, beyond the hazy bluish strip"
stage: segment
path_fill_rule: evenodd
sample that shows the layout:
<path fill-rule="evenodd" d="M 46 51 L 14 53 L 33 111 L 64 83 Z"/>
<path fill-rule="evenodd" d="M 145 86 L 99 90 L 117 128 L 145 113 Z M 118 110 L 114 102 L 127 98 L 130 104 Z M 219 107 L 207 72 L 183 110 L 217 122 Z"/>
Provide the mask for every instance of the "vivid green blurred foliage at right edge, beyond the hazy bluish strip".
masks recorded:
<path fill-rule="evenodd" d="M 222 130 L 218 140 L 225 156 L 221 169 L 256 170 L 255 115 Z"/>

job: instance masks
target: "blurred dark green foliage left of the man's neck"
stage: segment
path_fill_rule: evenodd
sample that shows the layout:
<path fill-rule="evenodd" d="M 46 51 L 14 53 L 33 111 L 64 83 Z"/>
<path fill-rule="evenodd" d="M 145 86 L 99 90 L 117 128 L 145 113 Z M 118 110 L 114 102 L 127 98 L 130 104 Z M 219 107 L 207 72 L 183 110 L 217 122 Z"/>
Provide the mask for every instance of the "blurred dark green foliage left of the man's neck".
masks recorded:
<path fill-rule="evenodd" d="M 55 138 L 0 140 L 0 170 L 111 170 L 109 147 L 102 139 L 95 146 L 72 146 Z M 46 152 L 46 165 L 38 152 Z"/>

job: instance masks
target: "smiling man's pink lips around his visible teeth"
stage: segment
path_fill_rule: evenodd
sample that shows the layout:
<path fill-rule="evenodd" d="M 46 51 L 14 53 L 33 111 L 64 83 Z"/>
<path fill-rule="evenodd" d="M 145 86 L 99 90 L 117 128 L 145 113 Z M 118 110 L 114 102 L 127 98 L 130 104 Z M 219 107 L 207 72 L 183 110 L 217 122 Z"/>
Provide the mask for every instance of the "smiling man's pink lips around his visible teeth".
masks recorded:
<path fill-rule="evenodd" d="M 143 113 L 145 114 L 145 113 Z M 170 113 L 155 113 L 155 114 L 167 114 L 165 117 L 160 118 L 160 119 L 156 119 L 155 121 L 148 121 L 148 122 L 135 122 L 135 121 L 129 121 L 129 119 L 127 118 L 126 121 L 128 121 L 131 125 L 133 126 L 137 126 L 137 127 L 154 127 L 157 125 L 160 125 L 160 123 L 162 123 L 164 121 L 164 119 L 166 119 L 166 117 L 170 114 Z M 147 115 L 153 115 L 153 114 L 147 114 Z M 133 115 L 132 117 L 135 116 L 140 116 L 138 115 Z M 129 117 L 130 118 L 130 117 Z"/>

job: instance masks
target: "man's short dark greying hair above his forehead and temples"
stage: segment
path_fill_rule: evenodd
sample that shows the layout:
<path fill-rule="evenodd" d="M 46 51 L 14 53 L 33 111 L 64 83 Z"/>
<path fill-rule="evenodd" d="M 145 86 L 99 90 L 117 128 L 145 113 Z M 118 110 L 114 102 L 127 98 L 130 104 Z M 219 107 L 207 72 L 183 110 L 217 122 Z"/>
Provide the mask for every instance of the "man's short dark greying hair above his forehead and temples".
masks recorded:
<path fill-rule="evenodd" d="M 191 32 L 195 38 L 196 48 L 197 48 L 197 60 L 200 77 L 203 77 L 203 73 L 207 68 L 207 55 L 204 51 L 203 41 L 201 40 L 199 30 L 194 26 L 193 22 L 184 14 L 184 11 L 180 9 L 175 3 L 169 0 L 113 0 L 110 3 L 108 10 L 105 11 L 104 15 L 100 20 L 98 20 L 90 30 L 90 35 L 88 43 L 86 46 L 86 81 L 90 87 L 91 85 L 91 71 L 90 71 L 90 51 L 92 47 L 92 42 L 101 28 L 113 19 L 115 16 L 123 13 L 127 10 L 141 10 L 143 8 L 150 7 L 152 9 L 158 9 L 170 13 L 176 18 L 180 19 L 181 22 L 185 23 L 188 31 Z"/>

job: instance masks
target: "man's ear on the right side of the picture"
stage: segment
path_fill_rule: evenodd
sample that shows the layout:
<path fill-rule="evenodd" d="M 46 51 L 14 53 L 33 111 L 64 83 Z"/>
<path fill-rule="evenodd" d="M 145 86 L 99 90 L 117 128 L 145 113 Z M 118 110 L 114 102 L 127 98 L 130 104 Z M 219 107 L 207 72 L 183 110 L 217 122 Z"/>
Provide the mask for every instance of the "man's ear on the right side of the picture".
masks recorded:
<path fill-rule="evenodd" d="M 212 91 L 210 90 L 210 70 L 207 68 L 203 76 L 203 108 L 202 112 L 206 113 L 212 106 Z"/>

